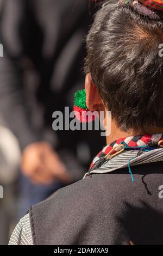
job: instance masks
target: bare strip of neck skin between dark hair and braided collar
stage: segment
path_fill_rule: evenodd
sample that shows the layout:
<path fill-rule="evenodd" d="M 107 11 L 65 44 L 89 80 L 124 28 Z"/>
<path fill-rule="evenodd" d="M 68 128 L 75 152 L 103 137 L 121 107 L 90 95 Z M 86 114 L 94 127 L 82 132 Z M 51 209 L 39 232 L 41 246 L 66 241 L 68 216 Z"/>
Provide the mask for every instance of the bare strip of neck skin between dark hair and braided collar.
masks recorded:
<path fill-rule="evenodd" d="M 124 132 L 121 131 L 118 127 L 117 124 L 114 120 L 111 120 L 111 133 L 109 136 L 106 136 L 106 143 L 107 145 L 110 144 L 111 142 L 116 141 L 116 139 L 122 138 L 122 137 L 130 137 L 130 136 L 136 136 L 136 135 L 152 135 L 155 133 L 163 133 L 163 127 L 159 128 L 159 127 L 149 127 L 149 129 L 147 130 L 147 132 L 142 133 L 140 131 L 129 131 L 129 132 Z"/>

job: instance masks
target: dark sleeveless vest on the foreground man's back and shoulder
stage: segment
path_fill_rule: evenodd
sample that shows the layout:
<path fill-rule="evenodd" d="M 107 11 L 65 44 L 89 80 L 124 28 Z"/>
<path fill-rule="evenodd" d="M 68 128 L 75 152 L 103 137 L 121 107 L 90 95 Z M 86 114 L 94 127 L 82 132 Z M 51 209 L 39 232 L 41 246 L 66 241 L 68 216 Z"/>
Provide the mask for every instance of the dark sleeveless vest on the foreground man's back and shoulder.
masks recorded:
<path fill-rule="evenodd" d="M 34 245 L 161 245 L 163 162 L 93 174 L 29 210 Z"/>

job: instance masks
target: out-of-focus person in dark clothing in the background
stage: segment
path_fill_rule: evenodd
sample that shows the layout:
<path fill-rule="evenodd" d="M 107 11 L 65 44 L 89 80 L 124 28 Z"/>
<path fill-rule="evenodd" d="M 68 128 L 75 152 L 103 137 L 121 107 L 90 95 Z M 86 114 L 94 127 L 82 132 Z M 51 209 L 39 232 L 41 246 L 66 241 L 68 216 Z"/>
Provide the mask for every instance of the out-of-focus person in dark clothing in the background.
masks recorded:
<path fill-rule="evenodd" d="M 72 110 L 74 92 L 84 87 L 88 6 L 87 0 L 0 0 L 0 112 L 21 149 L 18 218 L 81 179 L 102 147 L 98 131 L 52 129 L 53 112 Z"/>

